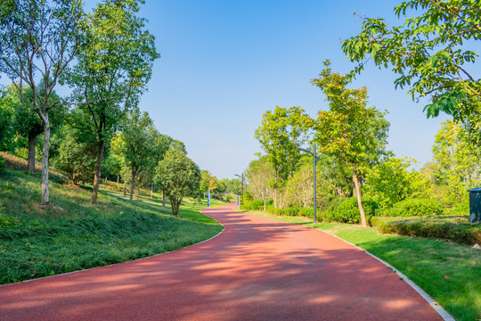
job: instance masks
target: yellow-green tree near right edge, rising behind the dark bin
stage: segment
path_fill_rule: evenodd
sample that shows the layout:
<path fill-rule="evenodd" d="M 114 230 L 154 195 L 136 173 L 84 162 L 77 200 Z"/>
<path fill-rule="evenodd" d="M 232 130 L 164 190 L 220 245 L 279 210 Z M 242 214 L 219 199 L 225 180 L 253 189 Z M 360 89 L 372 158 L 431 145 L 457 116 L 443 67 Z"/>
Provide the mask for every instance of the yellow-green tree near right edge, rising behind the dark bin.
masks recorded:
<path fill-rule="evenodd" d="M 480 182 L 481 168 L 459 124 L 447 120 L 436 134 L 433 145 L 433 176 L 446 185 L 451 203 L 461 203 L 466 190 Z"/>

